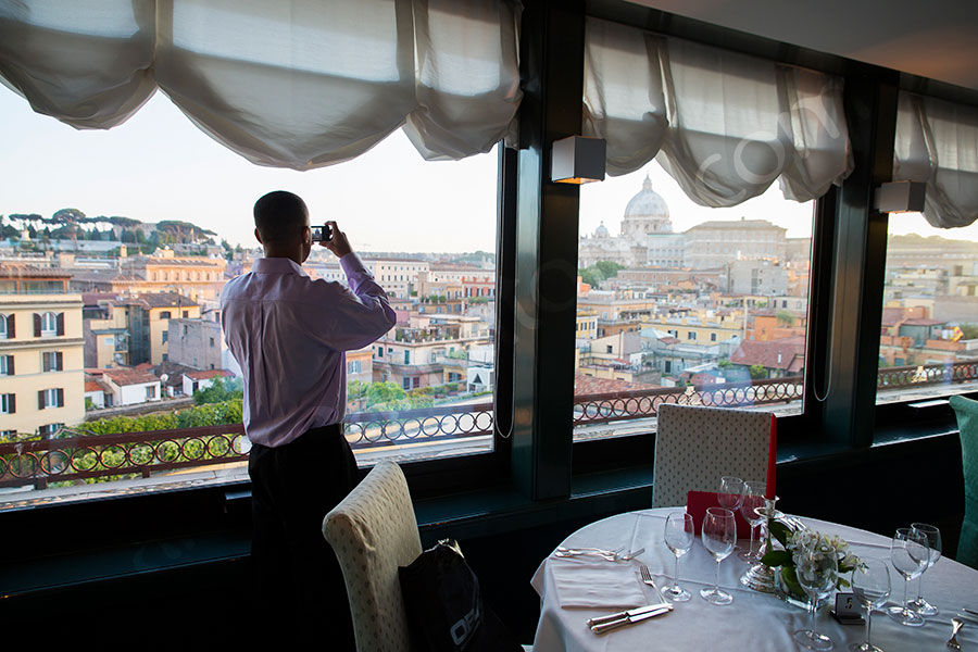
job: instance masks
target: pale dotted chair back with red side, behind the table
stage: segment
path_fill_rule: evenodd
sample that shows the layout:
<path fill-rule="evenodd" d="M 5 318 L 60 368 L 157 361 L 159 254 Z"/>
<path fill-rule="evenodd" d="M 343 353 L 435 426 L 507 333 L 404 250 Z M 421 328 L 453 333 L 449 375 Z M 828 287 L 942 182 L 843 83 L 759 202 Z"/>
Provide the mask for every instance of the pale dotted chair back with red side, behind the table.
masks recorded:
<path fill-rule="evenodd" d="M 723 476 L 767 481 L 773 418 L 768 412 L 661 404 L 652 506 L 685 505 L 687 493 L 716 491 Z"/>

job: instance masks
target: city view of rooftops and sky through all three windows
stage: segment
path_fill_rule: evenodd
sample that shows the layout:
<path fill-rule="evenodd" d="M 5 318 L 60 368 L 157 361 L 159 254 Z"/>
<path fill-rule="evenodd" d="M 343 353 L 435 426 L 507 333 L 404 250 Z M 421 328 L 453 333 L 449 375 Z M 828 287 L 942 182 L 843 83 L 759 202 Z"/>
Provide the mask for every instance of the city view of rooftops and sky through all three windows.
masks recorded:
<path fill-rule="evenodd" d="M 240 439 L 241 372 L 218 298 L 261 255 L 254 200 L 284 188 L 313 223 L 339 223 L 398 314 L 377 342 L 347 353 L 356 454 L 491 449 L 496 152 L 425 162 L 396 131 L 353 161 L 299 173 L 246 162 L 161 92 L 110 131 L 76 131 L 5 90 L 0 115 L 0 446 L 215 424 Z M 597 396 L 731 396 L 735 406 L 799 412 L 813 212 L 777 184 L 735 208 L 701 206 L 654 162 L 584 186 L 575 437 L 648 430 L 643 403 Z M 928 369 L 978 360 L 978 225 L 889 225 L 878 401 L 931 396 Z M 305 268 L 346 280 L 323 248 Z M 120 475 L 102 456 L 83 472 L 0 487 Z"/>

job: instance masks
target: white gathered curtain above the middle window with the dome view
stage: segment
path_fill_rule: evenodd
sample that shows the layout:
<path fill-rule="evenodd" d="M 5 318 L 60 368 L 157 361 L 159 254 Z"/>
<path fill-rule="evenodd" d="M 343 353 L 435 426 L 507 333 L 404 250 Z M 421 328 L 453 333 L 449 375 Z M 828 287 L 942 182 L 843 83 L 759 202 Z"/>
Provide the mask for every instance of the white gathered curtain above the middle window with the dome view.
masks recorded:
<path fill-rule="evenodd" d="M 695 202 L 731 206 L 780 177 L 807 201 L 852 171 L 841 80 L 591 18 L 585 124 L 609 173 L 652 158 Z"/>

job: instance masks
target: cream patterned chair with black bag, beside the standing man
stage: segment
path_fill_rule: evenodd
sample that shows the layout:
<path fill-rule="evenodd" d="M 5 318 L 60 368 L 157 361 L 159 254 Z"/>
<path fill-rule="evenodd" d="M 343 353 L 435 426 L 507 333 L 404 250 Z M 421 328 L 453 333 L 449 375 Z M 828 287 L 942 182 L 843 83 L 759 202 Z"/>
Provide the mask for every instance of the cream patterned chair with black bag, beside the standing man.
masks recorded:
<path fill-rule="evenodd" d="M 323 521 L 343 570 L 359 652 L 409 652 L 398 566 L 422 553 L 401 468 L 381 462 Z"/>

